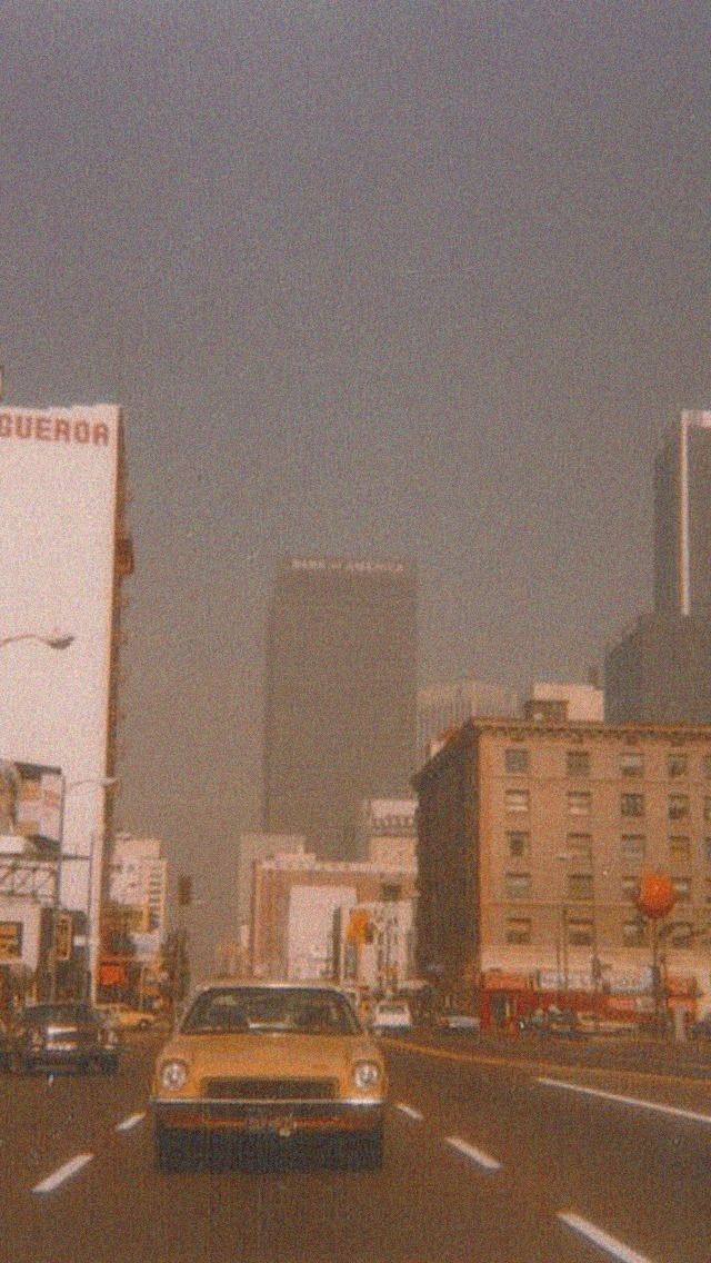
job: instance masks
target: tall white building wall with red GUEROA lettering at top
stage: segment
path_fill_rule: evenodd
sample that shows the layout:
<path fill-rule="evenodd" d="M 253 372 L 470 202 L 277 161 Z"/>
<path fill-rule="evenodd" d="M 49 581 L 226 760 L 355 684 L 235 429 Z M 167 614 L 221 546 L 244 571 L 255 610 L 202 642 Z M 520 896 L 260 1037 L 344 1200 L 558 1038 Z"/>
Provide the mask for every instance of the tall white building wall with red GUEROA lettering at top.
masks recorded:
<path fill-rule="evenodd" d="M 0 404 L 0 759 L 61 768 L 63 902 L 96 916 L 120 409 Z M 63 649 L 42 638 L 73 637 Z M 93 870 L 93 888 L 92 888 Z"/>

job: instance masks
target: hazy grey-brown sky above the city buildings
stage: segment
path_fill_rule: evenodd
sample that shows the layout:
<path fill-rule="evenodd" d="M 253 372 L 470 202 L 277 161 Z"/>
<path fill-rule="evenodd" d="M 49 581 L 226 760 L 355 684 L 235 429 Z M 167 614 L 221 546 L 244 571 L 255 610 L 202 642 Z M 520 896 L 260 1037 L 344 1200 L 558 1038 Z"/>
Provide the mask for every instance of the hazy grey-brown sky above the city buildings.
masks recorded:
<path fill-rule="evenodd" d="M 284 552 L 407 556 L 421 674 L 585 678 L 711 404 L 711 10 L 0 0 L 11 404 L 126 408 L 119 812 L 225 925 Z"/>

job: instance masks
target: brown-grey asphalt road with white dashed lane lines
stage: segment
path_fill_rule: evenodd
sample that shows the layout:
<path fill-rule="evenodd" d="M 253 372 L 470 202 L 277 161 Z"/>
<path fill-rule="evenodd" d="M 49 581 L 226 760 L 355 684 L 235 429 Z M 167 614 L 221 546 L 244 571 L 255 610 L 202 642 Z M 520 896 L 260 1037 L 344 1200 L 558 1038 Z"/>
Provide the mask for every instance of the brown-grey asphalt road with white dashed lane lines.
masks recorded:
<path fill-rule="evenodd" d="M 384 1041 L 381 1172 L 320 1151 L 153 1167 L 154 1036 L 119 1075 L 0 1076 L 3 1263 L 708 1263 L 703 1079 Z M 642 1058 L 643 1061 L 643 1058 Z"/>

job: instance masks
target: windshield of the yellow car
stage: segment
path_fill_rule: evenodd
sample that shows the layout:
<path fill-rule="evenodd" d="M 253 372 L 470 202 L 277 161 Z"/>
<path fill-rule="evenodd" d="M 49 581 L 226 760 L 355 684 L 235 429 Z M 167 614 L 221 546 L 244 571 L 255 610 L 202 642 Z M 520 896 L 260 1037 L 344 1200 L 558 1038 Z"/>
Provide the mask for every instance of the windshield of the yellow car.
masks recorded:
<path fill-rule="evenodd" d="M 184 1034 L 222 1032 L 355 1034 L 359 1022 L 336 991 L 301 988 L 215 988 L 202 991 L 186 1014 Z"/>

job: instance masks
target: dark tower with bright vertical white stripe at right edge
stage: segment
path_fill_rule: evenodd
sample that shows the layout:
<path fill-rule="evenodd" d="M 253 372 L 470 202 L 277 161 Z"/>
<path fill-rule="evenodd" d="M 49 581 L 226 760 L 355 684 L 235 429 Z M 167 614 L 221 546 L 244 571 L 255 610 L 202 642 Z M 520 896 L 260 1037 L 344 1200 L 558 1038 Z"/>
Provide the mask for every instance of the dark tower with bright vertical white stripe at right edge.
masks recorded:
<path fill-rule="evenodd" d="M 711 614 L 711 412 L 682 412 L 654 464 L 654 609 Z"/>

